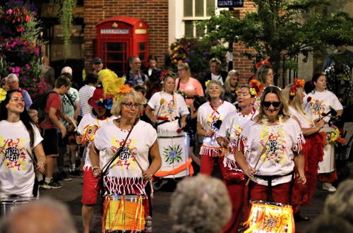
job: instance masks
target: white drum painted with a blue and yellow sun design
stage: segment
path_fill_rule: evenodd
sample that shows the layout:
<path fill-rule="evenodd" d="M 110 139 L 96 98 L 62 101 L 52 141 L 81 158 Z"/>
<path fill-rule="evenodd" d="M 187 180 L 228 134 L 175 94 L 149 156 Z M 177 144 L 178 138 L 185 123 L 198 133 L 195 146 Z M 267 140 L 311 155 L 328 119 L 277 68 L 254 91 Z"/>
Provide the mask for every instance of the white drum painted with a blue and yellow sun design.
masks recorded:
<path fill-rule="evenodd" d="M 169 172 L 184 165 L 189 160 L 189 136 L 186 132 L 174 131 L 158 133 L 158 146 L 162 157 L 161 172 Z M 189 168 L 162 178 L 178 178 L 189 176 Z"/>

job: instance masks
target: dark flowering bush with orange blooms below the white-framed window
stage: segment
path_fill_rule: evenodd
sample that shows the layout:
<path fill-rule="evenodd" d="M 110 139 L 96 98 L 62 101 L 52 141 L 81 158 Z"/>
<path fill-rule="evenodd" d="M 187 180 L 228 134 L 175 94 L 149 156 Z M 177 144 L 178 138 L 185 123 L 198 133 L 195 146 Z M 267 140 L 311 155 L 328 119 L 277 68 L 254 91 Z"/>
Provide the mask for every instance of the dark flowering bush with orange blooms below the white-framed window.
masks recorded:
<path fill-rule="evenodd" d="M 208 62 L 211 58 L 217 57 L 225 63 L 226 50 L 217 40 L 181 38 L 170 45 L 169 60 L 175 70 L 178 64 L 186 62 L 190 66 L 191 76 L 201 80 L 208 73 Z"/>

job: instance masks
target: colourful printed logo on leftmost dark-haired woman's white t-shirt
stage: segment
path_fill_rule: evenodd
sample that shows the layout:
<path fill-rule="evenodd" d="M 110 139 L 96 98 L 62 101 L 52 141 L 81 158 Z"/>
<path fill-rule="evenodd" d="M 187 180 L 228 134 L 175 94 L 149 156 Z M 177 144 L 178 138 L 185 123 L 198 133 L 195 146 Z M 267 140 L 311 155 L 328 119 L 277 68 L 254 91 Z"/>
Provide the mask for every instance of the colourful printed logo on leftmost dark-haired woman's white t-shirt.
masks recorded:
<path fill-rule="evenodd" d="M 28 162 L 26 158 L 26 150 L 23 146 L 25 139 L 17 138 L 15 141 L 9 139 L 6 145 L 1 145 L 1 166 L 4 166 L 4 172 L 9 169 L 13 171 L 25 171 L 25 164 Z"/>

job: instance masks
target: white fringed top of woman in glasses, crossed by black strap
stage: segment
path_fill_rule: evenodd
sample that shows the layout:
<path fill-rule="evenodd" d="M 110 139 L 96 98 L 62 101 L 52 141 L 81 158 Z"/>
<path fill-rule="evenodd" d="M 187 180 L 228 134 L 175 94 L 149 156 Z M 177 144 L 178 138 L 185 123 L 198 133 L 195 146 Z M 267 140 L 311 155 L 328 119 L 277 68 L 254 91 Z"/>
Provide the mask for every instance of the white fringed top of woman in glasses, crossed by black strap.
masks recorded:
<path fill-rule="evenodd" d="M 103 157 L 110 158 L 124 143 L 127 134 L 128 131 L 119 129 L 113 121 L 109 121 L 97 130 L 94 143 L 98 150 L 105 150 Z M 148 169 L 150 165 L 148 153 L 156 140 L 157 132 L 155 129 L 145 121 L 138 121 L 131 131 L 128 141 L 126 141 L 123 152 L 119 157 L 116 157 L 107 176 L 104 177 L 104 184 L 107 186 L 109 193 L 123 194 L 123 190 L 126 190 L 124 185 L 128 186 L 142 180 L 142 171 L 136 160 L 138 160 L 143 170 Z M 100 160 L 102 160 L 102 156 L 100 156 Z M 131 183 L 122 184 L 124 178 L 128 178 Z M 140 192 L 143 193 L 144 191 L 140 190 Z"/>

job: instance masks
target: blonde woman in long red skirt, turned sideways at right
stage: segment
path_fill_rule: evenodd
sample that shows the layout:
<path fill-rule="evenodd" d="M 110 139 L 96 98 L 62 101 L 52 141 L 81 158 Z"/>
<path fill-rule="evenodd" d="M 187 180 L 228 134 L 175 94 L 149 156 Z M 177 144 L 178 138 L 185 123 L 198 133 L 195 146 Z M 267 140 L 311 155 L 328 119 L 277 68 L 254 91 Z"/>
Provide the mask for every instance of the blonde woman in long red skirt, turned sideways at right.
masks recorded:
<path fill-rule="evenodd" d="M 287 85 L 283 90 L 285 99 L 289 102 L 289 113 L 296 117 L 303 135 L 305 144 L 303 154 L 305 158 L 305 177 L 306 185 L 302 185 L 294 180 L 292 206 L 296 220 L 309 220 L 309 217 L 299 212 L 300 205 L 311 203 L 311 198 L 316 190 L 316 176 L 318 175 L 318 162 L 323 160 L 323 138 L 318 133 L 325 125 L 322 119 L 312 121 L 303 108 L 305 80 L 294 79 L 294 83 Z"/>

